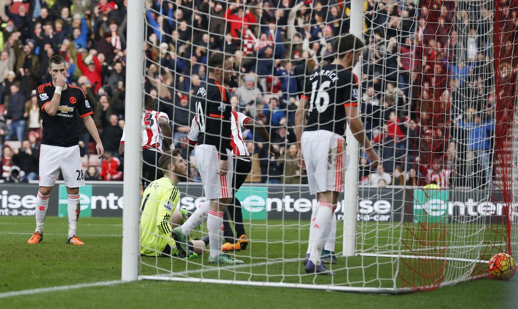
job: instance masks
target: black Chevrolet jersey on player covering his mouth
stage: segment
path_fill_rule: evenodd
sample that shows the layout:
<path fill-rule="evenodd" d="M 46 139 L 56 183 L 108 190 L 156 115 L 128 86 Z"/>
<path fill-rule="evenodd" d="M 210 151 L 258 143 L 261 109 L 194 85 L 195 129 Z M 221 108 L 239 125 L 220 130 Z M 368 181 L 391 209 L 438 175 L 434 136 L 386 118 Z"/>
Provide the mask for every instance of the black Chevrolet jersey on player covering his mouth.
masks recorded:
<path fill-rule="evenodd" d="M 67 84 L 66 89 L 61 92 L 57 112 L 51 116 L 45 112 L 45 106 L 50 104 L 54 90 L 55 87 L 52 83 L 39 85 L 37 89 L 38 104 L 43 120 L 41 143 L 61 147 L 77 145 L 79 142 L 78 116 L 82 118 L 93 114 L 90 103 L 81 88 Z"/>

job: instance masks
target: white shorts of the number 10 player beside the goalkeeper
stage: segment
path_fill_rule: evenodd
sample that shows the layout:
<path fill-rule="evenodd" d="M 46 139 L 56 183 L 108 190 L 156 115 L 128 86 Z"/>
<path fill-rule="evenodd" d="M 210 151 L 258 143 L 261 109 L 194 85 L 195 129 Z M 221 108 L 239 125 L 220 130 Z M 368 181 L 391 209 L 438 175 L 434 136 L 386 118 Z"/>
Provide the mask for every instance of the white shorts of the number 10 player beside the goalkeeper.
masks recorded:
<path fill-rule="evenodd" d="M 203 189 L 206 199 L 232 197 L 232 180 L 234 177 L 234 159 L 232 151 L 227 149 L 228 171 L 221 176 L 219 153 L 214 145 L 196 145 L 194 149 L 196 164 L 200 176 L 202 176 Z"/>

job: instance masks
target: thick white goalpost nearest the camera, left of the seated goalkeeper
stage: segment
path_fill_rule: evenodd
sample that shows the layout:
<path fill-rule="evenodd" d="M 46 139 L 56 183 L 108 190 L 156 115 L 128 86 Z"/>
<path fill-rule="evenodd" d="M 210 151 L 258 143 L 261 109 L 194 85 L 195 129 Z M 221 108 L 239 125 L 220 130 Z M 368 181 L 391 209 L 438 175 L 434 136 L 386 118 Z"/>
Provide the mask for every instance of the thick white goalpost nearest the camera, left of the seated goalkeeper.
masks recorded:
<path fill-rule="evenodd" d="M 122 214 L 122 281 L 138 276 L 138 208 L 142 116 L 144 2 L 128 1 L 126 56 L 126 127 L 124 142 L 124 210 Z"/>

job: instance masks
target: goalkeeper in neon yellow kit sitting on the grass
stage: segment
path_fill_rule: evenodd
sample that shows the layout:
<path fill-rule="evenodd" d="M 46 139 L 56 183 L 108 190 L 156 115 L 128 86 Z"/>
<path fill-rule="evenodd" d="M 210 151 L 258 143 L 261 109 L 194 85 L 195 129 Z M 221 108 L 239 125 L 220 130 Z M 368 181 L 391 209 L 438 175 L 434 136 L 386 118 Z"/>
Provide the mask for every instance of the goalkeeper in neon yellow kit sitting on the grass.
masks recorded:
<path fill-rule="evenodd" d="M 150 183 L 142 194 L 140 254 L 195 258 L 202 254 L 206 242 L 189 241 L 189 252 L 182 256 L 171 238 L 171 229 L 183 224 L 184 214 L 176 208 L 180 199 L 176 185 L 180 177 L 187 174 L 187 162 L 181 157 L 181 150 L 175 149 L 165 152 L 159 158 L 158 167 L 164 176 Z M 208 243 L 208 238 L 206 241 Z"/>

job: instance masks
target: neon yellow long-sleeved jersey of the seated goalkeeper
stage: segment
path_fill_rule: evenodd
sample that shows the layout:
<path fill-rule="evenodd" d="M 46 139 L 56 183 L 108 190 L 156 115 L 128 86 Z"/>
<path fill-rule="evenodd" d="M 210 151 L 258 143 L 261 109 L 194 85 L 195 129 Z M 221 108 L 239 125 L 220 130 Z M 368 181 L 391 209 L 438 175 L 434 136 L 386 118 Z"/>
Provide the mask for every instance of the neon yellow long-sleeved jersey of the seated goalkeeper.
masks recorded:
<path fill-rule="evenodd" d="M 142 194 L 140 211 L 140 254 L 159 255 L 171 238 L 171 214 L 175 211 L 180 191 L 169 178 L 162 177 L 150 183 Z"/>

